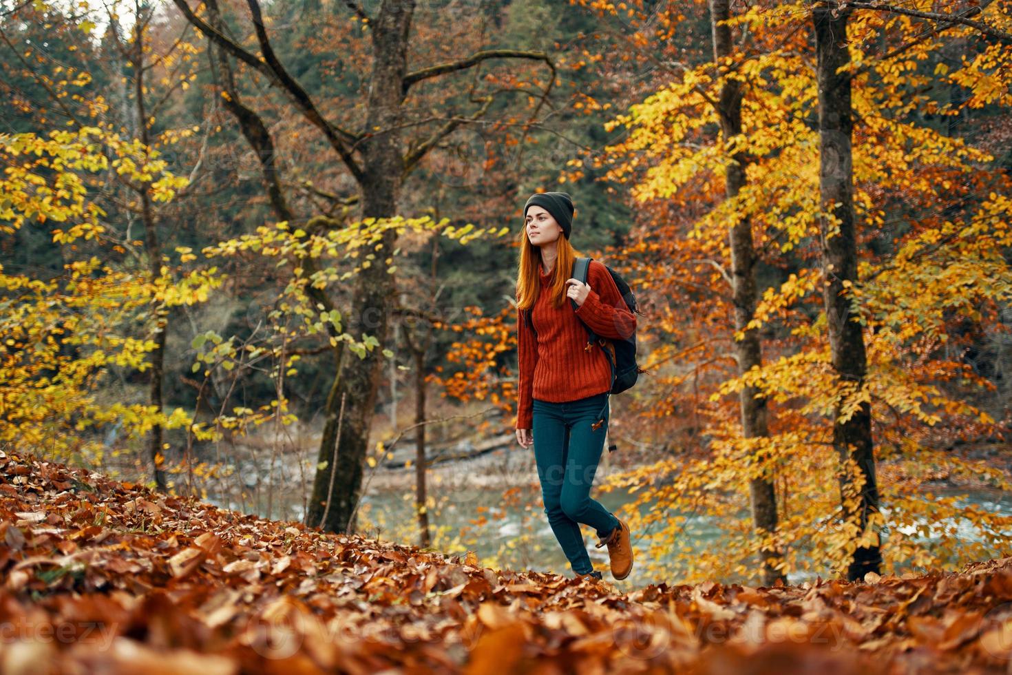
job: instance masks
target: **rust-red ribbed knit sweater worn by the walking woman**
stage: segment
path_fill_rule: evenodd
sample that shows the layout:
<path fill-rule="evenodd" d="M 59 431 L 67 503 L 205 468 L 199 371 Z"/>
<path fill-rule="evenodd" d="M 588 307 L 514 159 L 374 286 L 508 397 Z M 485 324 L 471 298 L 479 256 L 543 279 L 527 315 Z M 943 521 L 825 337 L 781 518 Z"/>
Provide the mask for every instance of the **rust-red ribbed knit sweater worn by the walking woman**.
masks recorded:
<path fill-rule="evenodd" d="M 545 274 L 540 264 L 541 288 L 551 283 L 552 272 Z M 569 278 L 567 274 L 566 278 Z M 587 270 L 590 292 L 576 310 L 567 298 L 562 309 L 556 309 L 546 292 L 539 292 L 530 315 L 537 331 L 527 327 L 517 312 L 517 352 L 519 383 L 517 385 L 516 428 L 530 429 L 533 422 L 533 400 L 576 401 L 611 389 L 611 366 L 600 345 L 590 351 L 587 328 L 611 339 L 628 338 L 636 332 L 636 315 L 625 307 L 611 274 L 603 263 L 590 261 Z M 579 317 L 579 318 L 578 318 Z"/>

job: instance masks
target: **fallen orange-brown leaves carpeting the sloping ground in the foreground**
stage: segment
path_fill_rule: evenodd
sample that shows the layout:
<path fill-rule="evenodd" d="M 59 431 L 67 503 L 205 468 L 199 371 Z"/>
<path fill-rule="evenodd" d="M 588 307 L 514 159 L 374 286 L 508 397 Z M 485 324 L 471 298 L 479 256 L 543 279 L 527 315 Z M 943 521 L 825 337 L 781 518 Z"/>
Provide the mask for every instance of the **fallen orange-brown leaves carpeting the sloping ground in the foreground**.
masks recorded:
<path fill-rule="evenodd" d="M 1012 559 L 619 594 L 0 452 L 3 673 L 1009 672 Z"/>

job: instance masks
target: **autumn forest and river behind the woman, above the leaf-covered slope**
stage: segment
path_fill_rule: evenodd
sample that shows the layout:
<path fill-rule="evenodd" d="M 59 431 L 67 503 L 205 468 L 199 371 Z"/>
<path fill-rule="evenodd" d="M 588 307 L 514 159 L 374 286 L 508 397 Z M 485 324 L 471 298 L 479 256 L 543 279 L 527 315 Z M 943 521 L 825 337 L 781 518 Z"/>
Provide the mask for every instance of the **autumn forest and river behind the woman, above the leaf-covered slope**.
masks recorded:
<path fill-rule="evenodd" d="M 641 309 L 598 479 L 638 582 L 1008 555 L 1012 3 L 38 0 L 0 29 L 6 449 L 545 567 L 512 302 L 523 201 L 563 189 Z M 446 448 L 512 483 L 432 483 Z"/>

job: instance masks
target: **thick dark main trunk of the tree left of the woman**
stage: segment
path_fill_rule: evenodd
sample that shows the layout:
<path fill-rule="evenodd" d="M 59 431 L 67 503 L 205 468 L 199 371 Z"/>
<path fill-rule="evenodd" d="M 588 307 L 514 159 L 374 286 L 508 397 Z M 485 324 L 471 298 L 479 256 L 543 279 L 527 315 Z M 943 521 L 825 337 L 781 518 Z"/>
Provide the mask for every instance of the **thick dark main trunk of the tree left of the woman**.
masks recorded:
<path fill-rule="evenodd" d="M 372 35 L 372 73 L 366 108 L 366 129 L 384 130 L 362 144 L 363 177 L 362 218 L 389 218 L 397 214 L 397 196 L 401 187 L 404 159 L 401 154 L 401 104 L 404 100 L 404 76 L 408 62 L 408 32 L 414 13 L 413 0 L 385 0 L 376 19 L 370 23 Z M 374 337 L 380 346 L 359 358 L 344 349 L 335 386 L 347 393 L 348 406 L 336 439 L 337 451 L 331 438 L 336 436 L 337 419 L 328 416 L 324 426 L 313 496 L 310 500 L 309 522 L 333 532 L 349 531 L 353 527 L 352 513 L 358 503 L 362 483 L 362 463 L 368 445 L 369 431 L 375 409 L 382 374 L 382 349 L 387 344 L 387 331 L 393 308 L 394 282 L 387 272 L 386 258 L 397 242 L 395 230 L 384 233 L 375 260 L 362 269 L 355 283 L 351 315 L 346 330 L 356 339 Z M 340 400 L 340 396 L 337 397 Z M 336 457 L 336 461 L 332 461 Z M 326 463 L 325 463 L 326 462 Z M 330 473 L 338 472 L 331 482 Z M 329 486 L 333 483 L 333 492 Z M 330 493 L 330 494 L 329 494 Z M 327 502 L 326 522 L 321 522 Z"/>

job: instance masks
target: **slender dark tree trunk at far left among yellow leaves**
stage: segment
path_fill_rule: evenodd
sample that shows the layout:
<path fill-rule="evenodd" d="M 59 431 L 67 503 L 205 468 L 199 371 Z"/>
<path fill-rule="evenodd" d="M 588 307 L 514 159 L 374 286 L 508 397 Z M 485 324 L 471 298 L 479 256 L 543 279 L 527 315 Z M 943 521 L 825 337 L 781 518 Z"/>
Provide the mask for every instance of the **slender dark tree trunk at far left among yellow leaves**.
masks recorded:
<path fill-rule="evenodd" d="M 149 152 L 151 141 L 148 133 L 148 112 L 144 100 L 144 31 L 146 22 L 143 20 L 140 6 L 136 14 L 137 20 L 134 28 L 134 85 L 135 96 L 137 98 L 138 133 L 141 136 L 141 143 L 144 144 L 144 152 Z M 150 266 L 152 279 L 162 273 L 162 246 L 158 239 L 158 226 L 155 223 L 155 212 L 151 203 L 151 184 L 142 182 L 138 188 L 138 196 L 141 200 L 141 220 L 144 222 L 145 248 L 148 253 L 148 264 Z M 149 381 L 148 402 L 155 407 L 159 413 L 162 412 L 162 381 L 165 376 L 165 332 L 168 322 L 166 316 L 168 309 L 162 305 L 155 305 L 152 316 L 155 320 L 155 349 L 151 352 L 151 374 Z M 167 490 L 168 482 L 165 479 L 165 472 L 162 470 L 160 457 L 164 457 L 162 445 L 164 443 L 164 432 L 161 424 L 154 424 L 148 436 L 148 457 L 151 460 L 152 473 L 155 477 L 155 487 L 158 490 Z"/>

